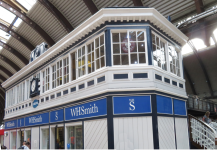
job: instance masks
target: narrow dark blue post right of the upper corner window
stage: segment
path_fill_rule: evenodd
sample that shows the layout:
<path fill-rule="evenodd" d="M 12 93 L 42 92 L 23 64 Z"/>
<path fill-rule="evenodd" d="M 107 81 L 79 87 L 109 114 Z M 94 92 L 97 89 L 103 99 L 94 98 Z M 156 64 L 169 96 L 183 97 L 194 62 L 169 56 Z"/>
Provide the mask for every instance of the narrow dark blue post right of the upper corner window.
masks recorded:
<path fill-rule="evenodd" d="M 151 28 L 146 28 L 147 48 L 148 48 L 148 65 L 153 65 L 153 49 L 152 49 L 152 34 Z"/>

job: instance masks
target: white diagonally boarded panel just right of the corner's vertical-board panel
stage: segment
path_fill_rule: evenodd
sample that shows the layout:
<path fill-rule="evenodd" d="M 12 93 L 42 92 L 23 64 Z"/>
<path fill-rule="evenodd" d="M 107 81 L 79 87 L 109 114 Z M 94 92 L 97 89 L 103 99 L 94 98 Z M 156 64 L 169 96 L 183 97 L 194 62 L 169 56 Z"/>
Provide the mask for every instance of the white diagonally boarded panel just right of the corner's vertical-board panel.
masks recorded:
<path fill-rule="evenodd" d="M 173 117 L 158 117 L 159 149 L 175 149 Z"/>

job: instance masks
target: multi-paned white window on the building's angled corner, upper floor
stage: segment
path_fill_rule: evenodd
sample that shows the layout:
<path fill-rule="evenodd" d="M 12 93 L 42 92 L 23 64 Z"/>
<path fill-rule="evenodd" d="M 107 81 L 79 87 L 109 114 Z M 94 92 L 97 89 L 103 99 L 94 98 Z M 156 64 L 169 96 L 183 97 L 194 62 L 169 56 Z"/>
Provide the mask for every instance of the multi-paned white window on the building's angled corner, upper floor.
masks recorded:
<path fill-rule="evenodd" d="M 145 31 L 113 32 L 113 65 L 145 64 L 145 41 Z"/>

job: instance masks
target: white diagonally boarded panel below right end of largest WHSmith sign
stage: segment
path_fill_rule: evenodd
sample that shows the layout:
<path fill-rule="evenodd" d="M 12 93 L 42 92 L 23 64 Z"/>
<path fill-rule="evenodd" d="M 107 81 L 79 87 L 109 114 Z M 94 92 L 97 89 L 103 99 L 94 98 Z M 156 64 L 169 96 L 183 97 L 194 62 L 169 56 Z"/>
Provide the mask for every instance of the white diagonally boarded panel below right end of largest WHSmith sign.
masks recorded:
<path fill-rule="evenodd" d="M 84 148 L 108 149 L 107 119 L 84 121 Z"/>

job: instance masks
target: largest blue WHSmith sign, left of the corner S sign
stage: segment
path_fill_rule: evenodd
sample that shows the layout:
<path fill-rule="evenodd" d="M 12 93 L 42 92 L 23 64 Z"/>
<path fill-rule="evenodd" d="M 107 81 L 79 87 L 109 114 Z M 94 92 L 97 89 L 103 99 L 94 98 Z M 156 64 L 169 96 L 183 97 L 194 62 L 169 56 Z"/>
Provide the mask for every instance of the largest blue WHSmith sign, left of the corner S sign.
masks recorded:
<path fill-rule="evenodd" d="M 103 116 L 107 114 L 107 101 L 101 99 L 69 108 L 65 108 L 65 120 L 74 120 Z"/>

